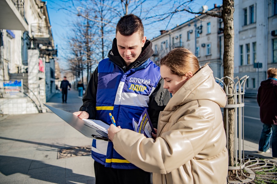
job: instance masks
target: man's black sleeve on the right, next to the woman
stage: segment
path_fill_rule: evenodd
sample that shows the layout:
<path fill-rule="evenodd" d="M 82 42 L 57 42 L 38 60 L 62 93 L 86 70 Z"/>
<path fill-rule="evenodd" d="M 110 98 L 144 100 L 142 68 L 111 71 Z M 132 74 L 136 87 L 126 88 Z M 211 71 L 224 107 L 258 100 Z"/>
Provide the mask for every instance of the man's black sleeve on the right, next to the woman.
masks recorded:
<path fill-rule="evenodd" d="M 156 89 L 149 97 L 148 114 L 154 128 L 157 128 L 160 111 L 164 110 L 170 100 L 170 94 L 163 86 L 164 80 L 160 78 Z"/>

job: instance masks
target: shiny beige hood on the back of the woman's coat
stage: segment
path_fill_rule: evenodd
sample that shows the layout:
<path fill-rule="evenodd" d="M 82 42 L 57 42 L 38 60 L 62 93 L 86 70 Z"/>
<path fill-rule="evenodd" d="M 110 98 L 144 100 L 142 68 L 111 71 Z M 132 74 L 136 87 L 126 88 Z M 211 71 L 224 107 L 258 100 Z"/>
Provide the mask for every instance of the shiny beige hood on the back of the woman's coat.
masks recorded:
<path fill-rule="evenodd" d="M 212 73 L 208 65 L 201 68 L 172 96 L 164 110 L 176 110 L 178 106 L 194 100 L 211 100 L 224 107 L 227 102 L 226 94 L 216 83 Z"/>

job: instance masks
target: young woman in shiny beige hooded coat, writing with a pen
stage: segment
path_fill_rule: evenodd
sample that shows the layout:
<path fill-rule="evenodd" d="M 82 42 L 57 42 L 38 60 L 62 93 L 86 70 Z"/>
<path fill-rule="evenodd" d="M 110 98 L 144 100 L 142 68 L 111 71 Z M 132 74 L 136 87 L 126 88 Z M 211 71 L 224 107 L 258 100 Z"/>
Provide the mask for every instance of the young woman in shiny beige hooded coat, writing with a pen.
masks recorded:
<path fill-rule="evenodd" d="M 227 183 L 228 152 L 220 107 L 226 94 L 208 65 L 201 67 L 186 48 L 160 61 L 164 88 L 172 98 L 160 112 L 156 139 L 111 125 L 114 149 L 144 171 L 153 183 Z"/>

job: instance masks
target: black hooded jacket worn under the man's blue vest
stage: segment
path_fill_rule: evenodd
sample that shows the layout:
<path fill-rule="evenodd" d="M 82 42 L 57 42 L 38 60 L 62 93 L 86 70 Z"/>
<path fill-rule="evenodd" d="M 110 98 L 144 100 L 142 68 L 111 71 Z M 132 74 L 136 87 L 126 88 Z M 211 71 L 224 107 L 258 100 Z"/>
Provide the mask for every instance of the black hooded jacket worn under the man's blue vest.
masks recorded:
<path fill-rule="evenodd" d="M 144 47 L 142 48 L 140 56 L 129 66 L 126 66 L 124 59 L 120 56 L 117 49 L 117 40 L 114 38 L 112 49 L 109 51 L 108 57 L 114 64 L 120 67 L 124 72 L 129 69 L 139 67 L 153 54 L 152 43 L 146 40 Z M 89 113 L 89 119 L 95 119 L 96 114 L 96 92 L 98 84 L 98 67 L 93 72 L 83 98 L 83 105 L 80 111 L 86 111 Z M 157 128 L 158 118 L 160 111 L 164 110 L 170 100 L 170 94 L 167 89 L 163 88 L 164 80 L 161 78 L 156 89 L 151 94 L 148 103 L 148 114 L 154 128 Z"/>

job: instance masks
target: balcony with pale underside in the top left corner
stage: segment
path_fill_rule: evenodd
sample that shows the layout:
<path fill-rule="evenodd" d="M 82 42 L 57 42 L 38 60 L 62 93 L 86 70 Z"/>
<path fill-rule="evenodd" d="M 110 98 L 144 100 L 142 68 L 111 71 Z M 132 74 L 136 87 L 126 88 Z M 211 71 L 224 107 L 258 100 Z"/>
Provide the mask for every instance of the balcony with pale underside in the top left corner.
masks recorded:
<path fill-rule="evenodd" d="M 0 17 L 0 29 L 28 30 L 23 0 L 1 0 Z"/>

